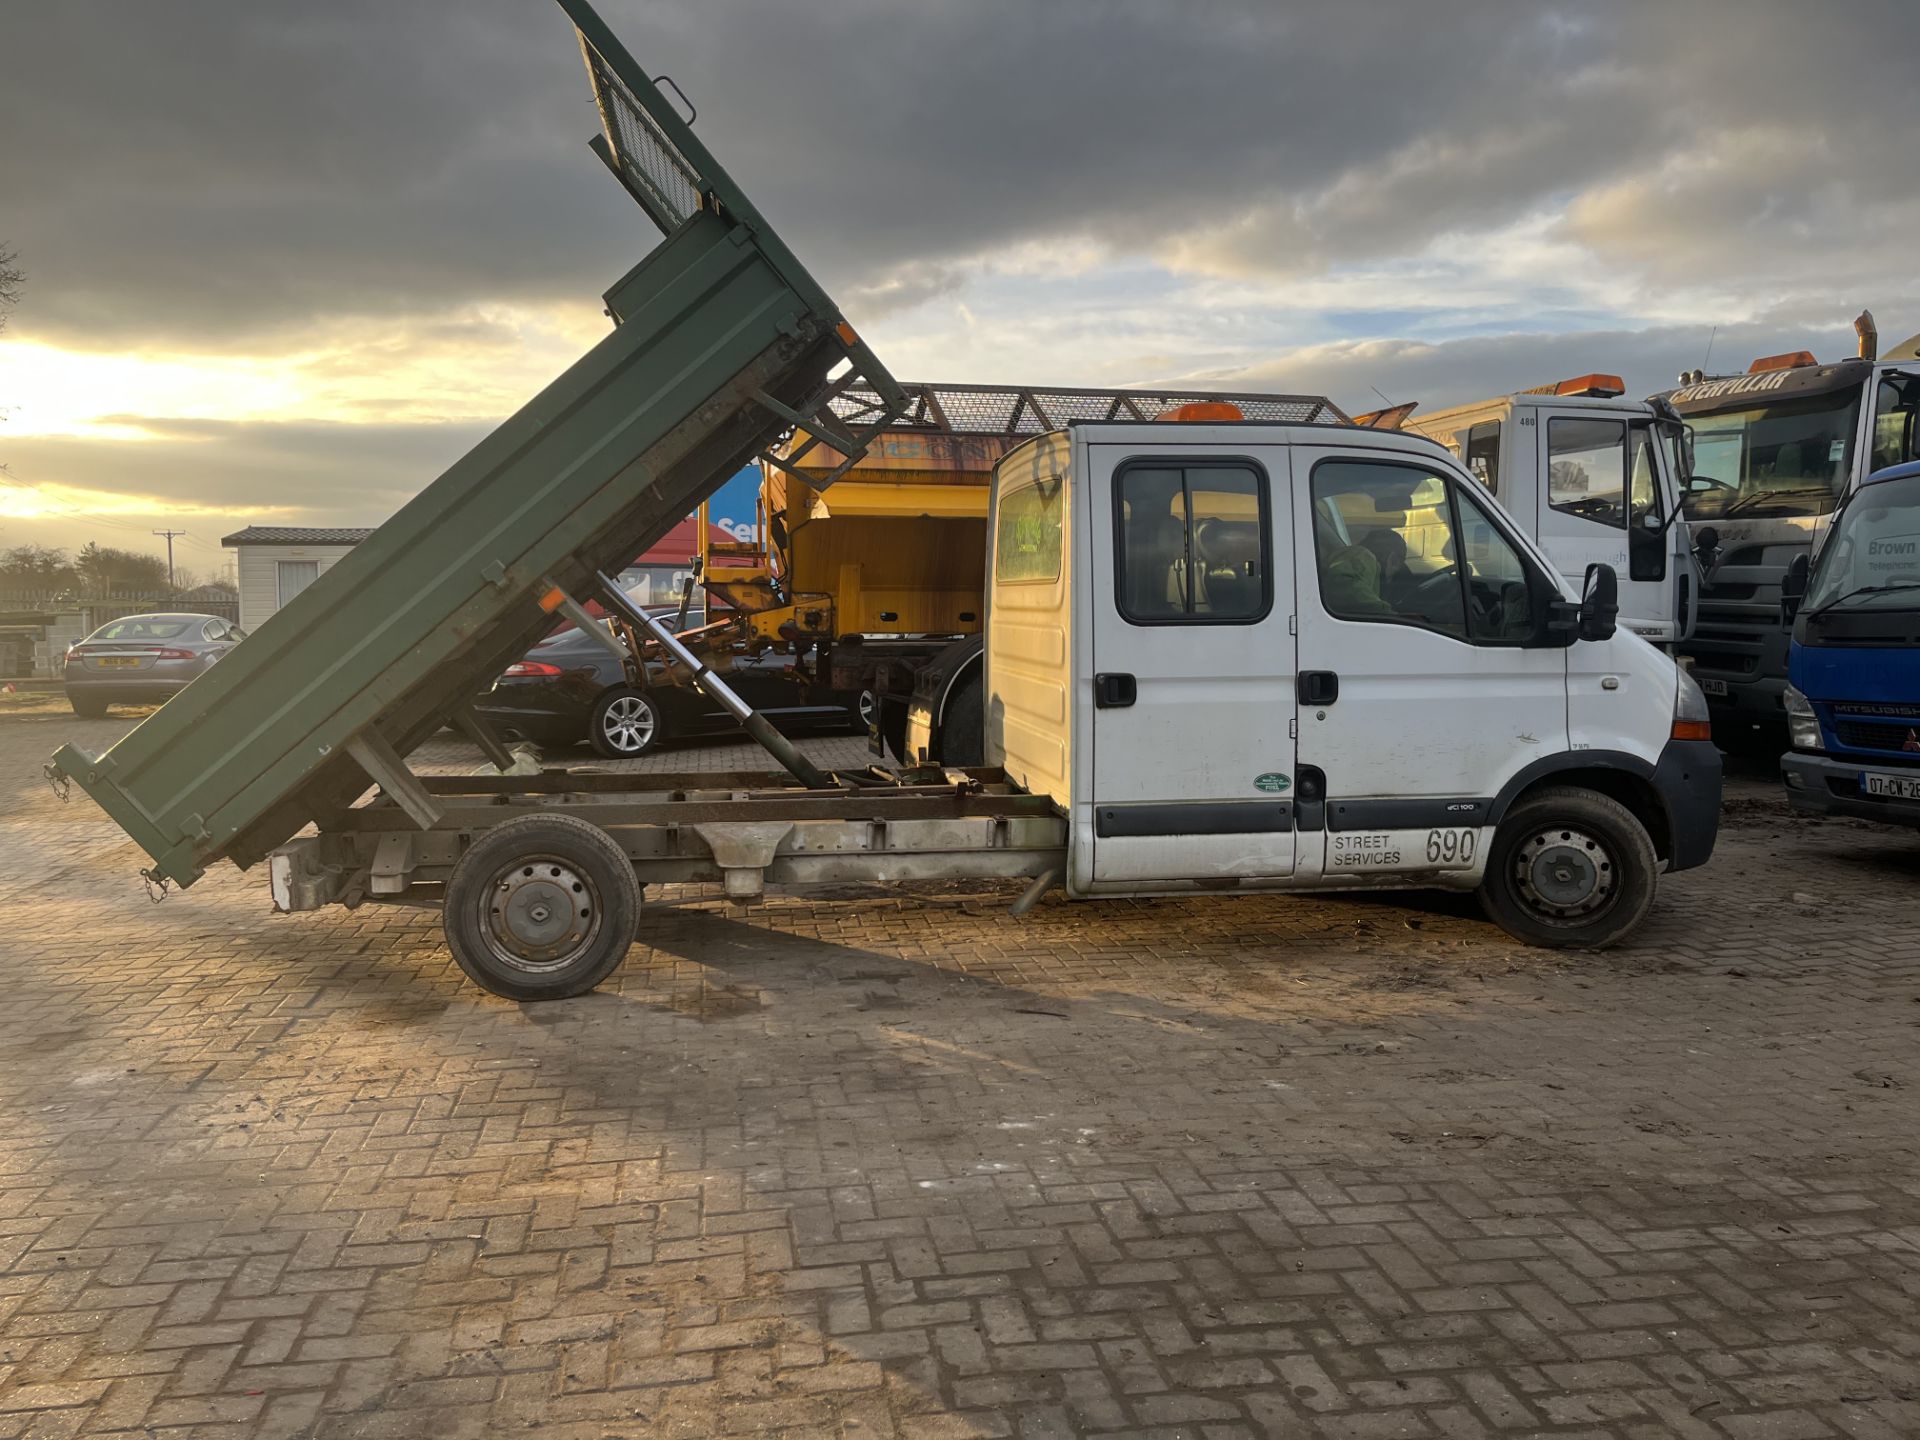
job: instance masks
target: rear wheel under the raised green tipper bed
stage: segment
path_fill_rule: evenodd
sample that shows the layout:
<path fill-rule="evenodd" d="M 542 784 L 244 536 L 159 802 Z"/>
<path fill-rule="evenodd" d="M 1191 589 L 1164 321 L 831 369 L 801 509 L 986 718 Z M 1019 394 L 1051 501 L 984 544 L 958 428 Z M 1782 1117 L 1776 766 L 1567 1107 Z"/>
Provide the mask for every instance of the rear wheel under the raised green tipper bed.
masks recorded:
<path fill-rule="evenodd" d="M 639 881 L 612 837 L 566 814 L 488 829 L 447 879 L 442 925 L 461 970 L 509 1000 L 586 995 L 626 958 Z"/>

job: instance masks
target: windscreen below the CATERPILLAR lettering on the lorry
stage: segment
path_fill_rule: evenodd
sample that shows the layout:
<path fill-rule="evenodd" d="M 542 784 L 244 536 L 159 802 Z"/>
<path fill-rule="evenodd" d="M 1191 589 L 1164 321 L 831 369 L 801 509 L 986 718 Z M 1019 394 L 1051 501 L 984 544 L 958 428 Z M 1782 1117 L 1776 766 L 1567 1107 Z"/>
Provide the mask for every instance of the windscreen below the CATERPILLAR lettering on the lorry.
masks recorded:
<path fill-rule="evenodd" d="M 1759 403 L 1741 396 L 1718 411 L 1688 409 L 1686 516 L 1830 515 L 1847 492 L 1859 419 L 1859 384 Z"/>

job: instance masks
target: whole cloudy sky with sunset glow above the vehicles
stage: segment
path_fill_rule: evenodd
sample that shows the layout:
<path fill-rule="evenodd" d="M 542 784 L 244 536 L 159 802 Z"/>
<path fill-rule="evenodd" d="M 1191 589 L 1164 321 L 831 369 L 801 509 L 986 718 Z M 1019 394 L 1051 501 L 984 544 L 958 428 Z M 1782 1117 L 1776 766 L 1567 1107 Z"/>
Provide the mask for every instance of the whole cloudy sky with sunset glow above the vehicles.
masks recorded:
<path fill-rule="evenodd" d="M 1912 0 L 603 13 L 902 378 L 1436 407 L 1920 328 Z M 655 242 L 593 131 L 545 0 L 13 8 L 0 547 L 382 520 Z"/>

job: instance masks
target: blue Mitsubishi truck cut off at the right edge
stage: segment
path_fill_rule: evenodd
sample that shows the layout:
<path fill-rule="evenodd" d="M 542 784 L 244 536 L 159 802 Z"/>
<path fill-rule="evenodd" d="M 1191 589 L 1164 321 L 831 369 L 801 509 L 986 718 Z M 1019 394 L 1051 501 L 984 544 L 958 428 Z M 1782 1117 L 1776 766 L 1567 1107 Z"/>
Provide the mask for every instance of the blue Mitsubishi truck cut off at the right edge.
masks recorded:
<path fill-rule="evenodd" d="M 1788 801 L 1920 826 L 1920 463 L 1866 476 L 1782 595 Z"/>

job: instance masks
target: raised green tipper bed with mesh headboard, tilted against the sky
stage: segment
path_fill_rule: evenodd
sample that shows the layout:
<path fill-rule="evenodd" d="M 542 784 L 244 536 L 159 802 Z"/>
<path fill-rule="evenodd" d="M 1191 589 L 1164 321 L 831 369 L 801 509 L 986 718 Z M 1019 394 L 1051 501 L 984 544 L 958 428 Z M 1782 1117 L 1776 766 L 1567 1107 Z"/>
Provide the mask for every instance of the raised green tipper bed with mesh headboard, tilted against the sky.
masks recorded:
<path fill-rule="evenodd" d="M 607 292 L 616 324 L 79 783 L 190 885 L 253 864 L 371 783 L 355 739 L 405 755 L 534 641 L 545 584 L 618 572 L 797 417 L 864 449 L 893 378 L 586 0 L 580 35 L 607 136 L 595 150 L 666 232 Z M 877 390 L 856 432 L 829 401 Z M 862 417 L 866 419 L 866 417 Z"/>

